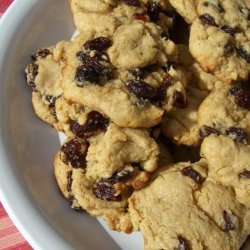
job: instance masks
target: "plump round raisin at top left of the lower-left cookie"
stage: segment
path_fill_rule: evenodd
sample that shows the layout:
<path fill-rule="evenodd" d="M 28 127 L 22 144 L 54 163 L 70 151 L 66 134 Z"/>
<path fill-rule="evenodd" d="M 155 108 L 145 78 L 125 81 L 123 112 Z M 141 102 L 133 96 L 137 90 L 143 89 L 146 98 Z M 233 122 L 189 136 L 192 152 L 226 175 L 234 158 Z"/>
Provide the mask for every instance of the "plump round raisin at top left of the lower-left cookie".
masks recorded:
<path fill-rule="evenodd" d="M 73 168 L 87 167 L 87 146 L 82 145 L 82 143 L 83 142 L 79 141 L 78 139 L 71 139 L 61 147 L 62 152 L 64 152 L 66 155 L 66 164 L 70 163 Z"/>

